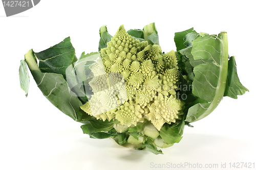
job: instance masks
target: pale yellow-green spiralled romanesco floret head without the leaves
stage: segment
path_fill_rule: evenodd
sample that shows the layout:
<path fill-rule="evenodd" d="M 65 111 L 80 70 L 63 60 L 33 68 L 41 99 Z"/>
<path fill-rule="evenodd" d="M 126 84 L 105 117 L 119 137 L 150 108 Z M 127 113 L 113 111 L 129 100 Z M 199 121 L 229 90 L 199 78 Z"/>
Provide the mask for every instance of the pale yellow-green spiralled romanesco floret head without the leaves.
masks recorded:
<path fill-rule="evenodd" d="M 106 44 L 100 59 L 90 66 L 93 79 L 89 84 L 94 94 L 81 106 L 83 111 L 127 127 L 150 121 L 158 131 L 164 123 L 182 118 L 174 51 L 164 54 L 158 44 L 140 42 L 123 25 Z"/>

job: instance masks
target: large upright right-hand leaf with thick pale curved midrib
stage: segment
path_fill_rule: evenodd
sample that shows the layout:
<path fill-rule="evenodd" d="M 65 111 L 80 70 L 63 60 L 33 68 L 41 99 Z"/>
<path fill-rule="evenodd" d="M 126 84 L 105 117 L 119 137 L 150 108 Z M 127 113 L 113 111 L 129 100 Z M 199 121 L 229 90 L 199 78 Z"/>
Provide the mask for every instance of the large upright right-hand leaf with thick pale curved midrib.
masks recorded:
<path fill-rule="evenodd" d="M 193 94 L 208 103 L 198 103 L 188 109 L 187 122 L 195 122 L 209 115 L 223 98 L 228 66 L 227 34 L 198 37 L 193 42 L 191 54 L 201 60 L 194 67 Z M 206 63 L 202 63 L 207 60 Z M 193 65 L 193 64 L 191 64 Z"/>

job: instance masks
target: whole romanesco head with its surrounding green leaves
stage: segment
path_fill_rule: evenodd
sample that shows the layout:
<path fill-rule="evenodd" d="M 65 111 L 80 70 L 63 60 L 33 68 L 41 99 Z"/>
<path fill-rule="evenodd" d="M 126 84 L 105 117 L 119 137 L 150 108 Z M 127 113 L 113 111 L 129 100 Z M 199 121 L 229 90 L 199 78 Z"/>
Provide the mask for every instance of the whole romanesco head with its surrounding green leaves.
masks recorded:
<path fill-rule="evenodd" d="M 223 96 L 248 91 L 239 81 L 227 33 L 175 33 L 176 49 L 163 52 L 155 23 L 114 36 L 99 31 L 98 51 L 76 58 L 70 37 L 45 51 L 32 49 L 20 61 L 20 87 L 28 95 L 29 74 L 61 112 L 82 123 L 90 138 L 110 138 L 137 150 L 162 154 L 178 143 Z M 165 39 L 169 39 L 169 33 Z"/>

